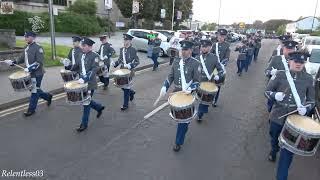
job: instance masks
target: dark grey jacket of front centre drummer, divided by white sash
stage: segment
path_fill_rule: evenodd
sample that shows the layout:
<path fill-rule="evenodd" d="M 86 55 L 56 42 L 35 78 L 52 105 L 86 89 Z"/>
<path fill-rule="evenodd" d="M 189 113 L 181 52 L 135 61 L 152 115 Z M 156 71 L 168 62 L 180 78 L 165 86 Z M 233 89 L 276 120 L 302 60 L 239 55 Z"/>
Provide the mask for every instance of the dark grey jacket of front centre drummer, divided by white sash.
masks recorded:
<path fill-rule="evenodd" d="M 174 84 L 174 92 L 182 90 L 181 84 L 181 74 L 180 74 L 180 58 L 174 60 L 168 78 L 166 80 L 167 88 L 173 83 Z M 186 83 L 188 84 L 190 81 L 193 83 L 200 82 L 200 73 L 201 66 L 198 60 L 190 57 L 184 60 L 184 74 L 186 78 Z"/>

